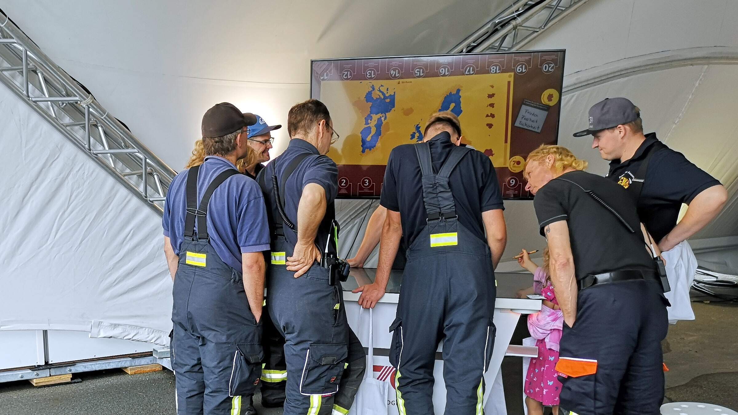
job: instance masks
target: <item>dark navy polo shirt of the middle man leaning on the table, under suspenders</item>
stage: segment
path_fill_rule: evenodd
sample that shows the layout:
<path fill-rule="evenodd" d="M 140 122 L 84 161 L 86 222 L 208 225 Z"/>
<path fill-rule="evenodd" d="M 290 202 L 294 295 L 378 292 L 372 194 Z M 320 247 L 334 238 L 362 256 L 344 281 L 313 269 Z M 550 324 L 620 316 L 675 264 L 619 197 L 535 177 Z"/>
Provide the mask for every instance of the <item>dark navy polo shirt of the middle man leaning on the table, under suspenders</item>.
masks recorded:
<path fill-rule="evenodd" d="M 438 172 L 455 144 L 446 132 L 433 137 L 429 143 L 433 172 Z M 384 171 L 379 200 L 385 208 L 400 212 L 402 234 L 407 246 L 413 245 L 426 226 L 428 217 L 423 203 L 420 163 L 413 145 L 402 144 L 393 148 L 387 160 L 387 170 Z M 492 161 L 477 150 L 469 151 L 451 172 L 449 188 L 459 222 L 480 240 L 486 241 L 482 212 L 505 209 Z"/>

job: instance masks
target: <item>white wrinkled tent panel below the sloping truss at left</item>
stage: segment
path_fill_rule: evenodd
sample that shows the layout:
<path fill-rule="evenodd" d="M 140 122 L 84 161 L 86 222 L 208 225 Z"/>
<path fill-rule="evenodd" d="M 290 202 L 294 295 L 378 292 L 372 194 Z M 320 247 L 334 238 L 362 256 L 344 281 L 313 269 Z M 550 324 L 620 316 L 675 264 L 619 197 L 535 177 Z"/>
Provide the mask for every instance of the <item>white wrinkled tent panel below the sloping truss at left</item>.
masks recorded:
<path fill-rule="evenodd" d="M 159 216 L 4 86 L 0 114 L 0 330 L 165 345 Z"/>

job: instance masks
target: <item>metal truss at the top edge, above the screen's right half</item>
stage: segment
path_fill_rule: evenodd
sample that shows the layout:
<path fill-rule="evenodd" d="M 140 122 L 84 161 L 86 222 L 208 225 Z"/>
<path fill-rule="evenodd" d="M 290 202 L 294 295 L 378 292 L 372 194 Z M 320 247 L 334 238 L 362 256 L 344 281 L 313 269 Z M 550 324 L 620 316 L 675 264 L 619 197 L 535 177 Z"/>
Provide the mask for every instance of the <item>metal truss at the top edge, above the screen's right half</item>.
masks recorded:
<path fill-rule="evenodd" d="M 589 0 L 517 0 L 449 53 L 518 50 Z"/>

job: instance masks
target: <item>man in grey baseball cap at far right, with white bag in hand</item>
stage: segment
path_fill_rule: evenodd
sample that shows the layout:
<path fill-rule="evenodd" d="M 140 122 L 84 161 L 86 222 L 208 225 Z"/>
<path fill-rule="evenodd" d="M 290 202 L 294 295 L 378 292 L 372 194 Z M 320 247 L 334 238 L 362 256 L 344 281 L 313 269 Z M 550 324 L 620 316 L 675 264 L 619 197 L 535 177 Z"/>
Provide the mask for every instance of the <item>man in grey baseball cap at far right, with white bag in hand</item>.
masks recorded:
<path fill-rule="evenodd" d="M 592 135 L 592 148 L 610 160 L 607 177 L 623 186 L 638 205 L 638 216 L 658 242 L 666 260 L 672 290 L 669 321 L 694 320 L 689 287 L 697 259 L 686 243 L 723 209 L 728 193 L 682 153 L 666 147 L 655 133 L 643 132 L 641 111 L 627 98 L 606 98 L 590 108 L 589 128 L 575 137 Z M 682 203 L 689 205 L 677 224 Z"/>

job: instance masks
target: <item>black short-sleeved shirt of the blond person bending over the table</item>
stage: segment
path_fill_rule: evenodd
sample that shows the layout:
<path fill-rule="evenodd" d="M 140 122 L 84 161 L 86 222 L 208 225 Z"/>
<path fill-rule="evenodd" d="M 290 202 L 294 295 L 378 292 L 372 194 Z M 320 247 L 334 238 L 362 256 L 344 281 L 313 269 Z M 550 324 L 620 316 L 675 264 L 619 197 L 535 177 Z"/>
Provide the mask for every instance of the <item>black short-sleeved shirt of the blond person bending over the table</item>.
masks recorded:
<path fill-rule="evenodd" d="M 635 232 L 628 231 L 613 213 L 577 184 L 593 190 Z M 576 279 L 587 274 L 653 269 L 635 203 L 613 181 L 587 172 L 568 172 L 542 186 L 533 203 L 542 235 L 545 236 L 546 226 L 566 220 Z"/>

